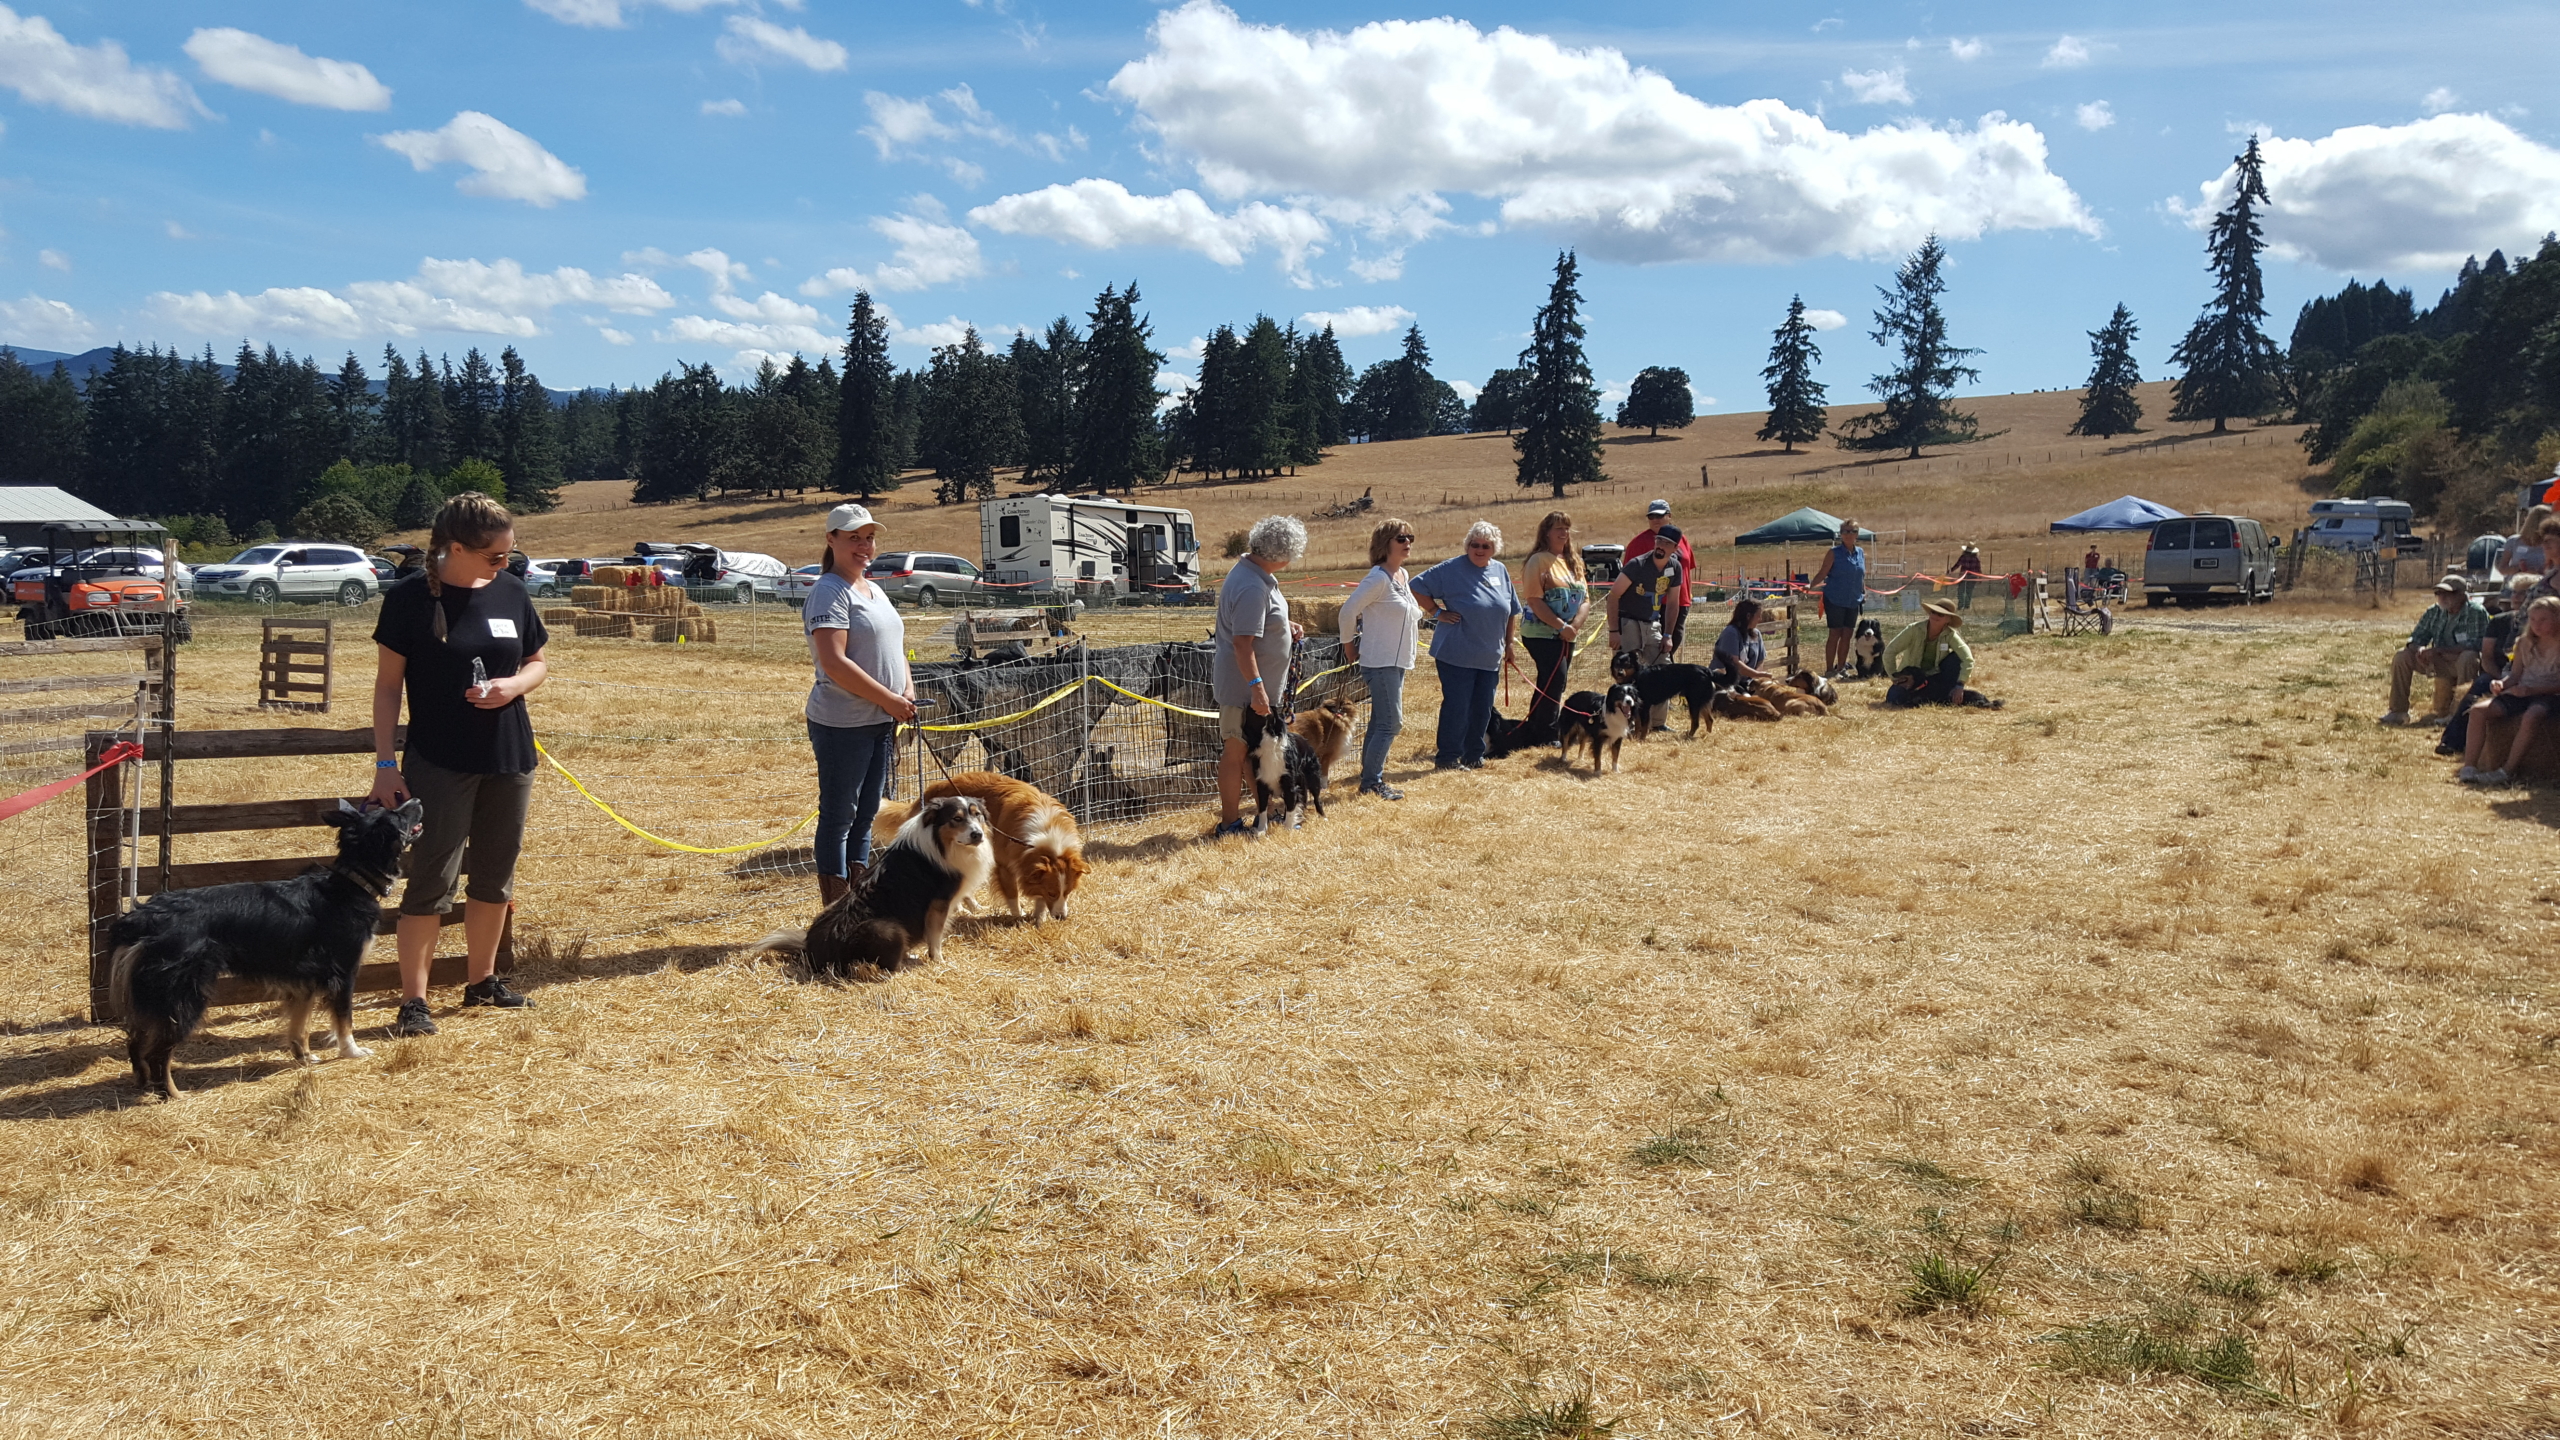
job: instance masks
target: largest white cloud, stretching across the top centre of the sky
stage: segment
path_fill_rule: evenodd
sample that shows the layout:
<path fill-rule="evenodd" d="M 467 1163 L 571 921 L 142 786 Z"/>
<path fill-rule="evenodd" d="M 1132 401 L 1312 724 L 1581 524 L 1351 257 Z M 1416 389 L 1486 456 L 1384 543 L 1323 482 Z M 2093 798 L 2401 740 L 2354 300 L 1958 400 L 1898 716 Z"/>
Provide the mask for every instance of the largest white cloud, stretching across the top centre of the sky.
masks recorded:
<path fill-rule="evenodd" d="M 1777 100 L 1710 105 L 1613 49 L 1449 18 L 1298 33 L 1190 0 L 1157 15 L 1152 41 L 1111 92 L 1221 200 L 1277 195 L 1303 213 L 1472 192 L 1510 225 L 1638 261 L 2097 231 L 2045 138 L 1997 113 L 1843 133 Z"/>

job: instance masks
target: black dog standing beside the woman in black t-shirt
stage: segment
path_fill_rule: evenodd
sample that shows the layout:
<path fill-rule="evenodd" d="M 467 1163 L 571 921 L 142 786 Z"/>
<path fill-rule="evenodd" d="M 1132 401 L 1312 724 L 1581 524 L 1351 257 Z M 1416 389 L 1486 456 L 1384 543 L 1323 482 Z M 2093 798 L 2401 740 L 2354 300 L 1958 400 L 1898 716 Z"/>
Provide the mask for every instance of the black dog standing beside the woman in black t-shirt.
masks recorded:
<path fill-rule="evenodd" d="M 310 1063 L 312 1007 L 328 1002 L 340 1061 L 371 1051 L 356 1043 L 356 966 L 374 943 L 381 897 L 399 853 L 417 840 L 425 810 L 356 810 L 338 802 L 338 861 L 294 879 L 207 884 L 154 894 L 108 930 L 115 1010 L 125 1017 L 133 1081 L 177 1099 L 169 1056 L 195 1035 L 212 984 L 241 976 L 284 1002 L 284 1048 Z"/>

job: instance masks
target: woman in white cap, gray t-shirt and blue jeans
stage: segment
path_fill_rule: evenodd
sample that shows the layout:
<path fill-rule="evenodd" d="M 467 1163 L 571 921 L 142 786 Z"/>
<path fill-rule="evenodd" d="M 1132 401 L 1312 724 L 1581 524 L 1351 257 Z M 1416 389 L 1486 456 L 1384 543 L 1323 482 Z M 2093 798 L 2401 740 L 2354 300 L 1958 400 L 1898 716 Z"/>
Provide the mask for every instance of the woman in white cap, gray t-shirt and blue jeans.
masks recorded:
<path fill-rule="evenodd" d="M 801 602 L 817 684 L 809 687 L 809 748 L 817 751 L 817 894 L 835 904 L 870 863 L 870 820 L 888 789 L 899 725 L 916 717 L 906 674 L 906 623 L 863 579 L 881 548 L 881 523 L 860 505 L 827 512 L 824 574 Z"/>

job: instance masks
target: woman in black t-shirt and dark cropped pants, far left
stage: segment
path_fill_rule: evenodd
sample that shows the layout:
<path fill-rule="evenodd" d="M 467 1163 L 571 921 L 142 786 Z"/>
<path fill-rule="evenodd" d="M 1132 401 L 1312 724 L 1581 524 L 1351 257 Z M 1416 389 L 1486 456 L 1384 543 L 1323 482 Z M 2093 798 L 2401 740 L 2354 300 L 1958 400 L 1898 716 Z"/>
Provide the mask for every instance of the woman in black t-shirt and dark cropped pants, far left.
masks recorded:
<path fill-rule="evenodd" d="M 543 618 L 525 582 L 507 574 L 515 518 L 497 500 L 463 492 L 435 512 L 428 561 L 381 594 L 374 643 L 374 799 L 417 797 L 425 830 L 410 851 L 399 894 L 399 1020 L 392 1035 L 433 1035 L 428 971 L 453 910 L 463 843 L 471 884 L 463 904 L 468 951 L 463 1004 L 532 1004 L 497 976 L 497 943 L 515 897 L 515 856 L 532 802 L 530 694 L 543 664 Z M 410 700 L 410 746 L 392 758 L 399 700 Z"/>

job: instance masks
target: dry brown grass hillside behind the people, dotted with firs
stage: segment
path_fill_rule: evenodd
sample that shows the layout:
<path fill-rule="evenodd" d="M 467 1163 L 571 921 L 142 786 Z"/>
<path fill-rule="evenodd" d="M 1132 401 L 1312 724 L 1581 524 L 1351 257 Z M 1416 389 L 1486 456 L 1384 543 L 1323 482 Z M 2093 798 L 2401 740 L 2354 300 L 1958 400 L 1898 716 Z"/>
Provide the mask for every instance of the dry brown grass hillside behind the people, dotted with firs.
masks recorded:
<path fill-rule="evenodd" d="M 1620 543 L 1644 530 L 1644 502 L 1667 497 L 1708 571 L 1741 561 L 1751 574 L 1777 574 L 1779 553 L 1736 556 L 1731 538 L 1797 505 L 1856 515 L 1887 536 L 1879 561 L 1905 561 L 1930 574 L 1943 574 L 1964 541 L 1979 541 L 1994 571 L 2076 564 L 2084 541 L 2051 536 L 2045 525 L 2127 492 L 2179 510 L 2255 515 L 2276 533 L 2291 533 L 2309 512 L 2309 495 L 2299 484 L 2299 425 L 2207 436 L 2209 425 L 2153 420 L 2140 436 L 2086 441 L 2063 433 L 2079 415 L 2076 392 L 1987 395 L 1966 405 L 1994 438 L 1930 451 L 1920 461 L 1853 456 L 1828 441 L 1779 454 L 1751 438 L 1761 415 L 1708 415 L 1661 438 L 1610 428 L 1610 484 L 1580 489 L 1567 510 L 1582 523 L 1582 543 Z M 2145 384 L 2143 405 L 2153 418 L 2166 415 L 2168 384 Z M 1833 420 L 1859 410 L 1836 407 Z M 1700 489 L 1700 466 L 1708 466 L 1713 489 Z M 1224 571 L 1219 541 L 1229 530 L 1270 512 L 1311 515 L 1362 489 L 1375 489 L 1382 515 L 1418 525 L 1418 559 L 1457 553 L 1477 518 L 1503 525 L 1516 553 L 1528 546 L 1539 515 L 1554 507 L 1551 497 L 1513 484 L 1508 436 L 1344 446 L 1321 466 L 1293 477 L 1216 484 L 1188 477 L 1147 497 L 1193 510 L 1208 543 L 1208 569 Z M 527 520 L 522 543 L 538 556 L 620 556 L 632 541 L 701 538 L 809 564 L 819 548 L 819 515 L 832 502 L 835 497 L 806 495 L 632 505 L 625 482 L 586 482 L 566 489 L 561 510 Z M 911 477 L 876 510 L 888 528 L 888 548 L 978 556 L 978 507 L 934 505 L 924 477 Z M 1313 553 L 1300 577 L 1357 579 L 1367 569 L 1370 525 L 1311 523 Z M 2109 546 L 2109 553 L 2117 548 Z M 1805 569 L 1815 556 L 1797 551 L 1792 559 Z"/>

